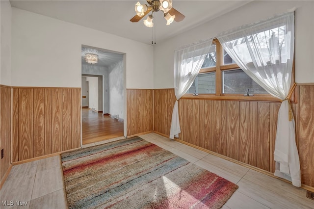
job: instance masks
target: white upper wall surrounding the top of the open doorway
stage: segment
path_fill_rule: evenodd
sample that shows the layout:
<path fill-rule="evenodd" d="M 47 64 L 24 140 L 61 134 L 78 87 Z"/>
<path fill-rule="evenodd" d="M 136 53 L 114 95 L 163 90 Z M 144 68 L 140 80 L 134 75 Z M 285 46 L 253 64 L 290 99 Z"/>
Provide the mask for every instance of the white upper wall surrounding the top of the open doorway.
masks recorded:
<path fill-rule="evenodd" d="M 126 53 L 126 87 L 154 88 L 153 46 L 14 7 L 12 86 L 81 87 L 81 45 Z"/>

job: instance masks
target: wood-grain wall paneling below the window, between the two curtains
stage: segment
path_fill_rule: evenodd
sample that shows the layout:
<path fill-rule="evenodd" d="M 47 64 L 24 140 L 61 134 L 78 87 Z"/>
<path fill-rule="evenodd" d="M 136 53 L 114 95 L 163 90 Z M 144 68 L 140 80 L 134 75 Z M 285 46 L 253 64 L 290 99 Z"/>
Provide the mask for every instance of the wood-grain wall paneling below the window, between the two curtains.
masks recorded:
<path fill-rule="evenodd" d="M 279 103 L 181 99 L 180 140 L 274 172 Z M 271 128 L 272 127 L 272 128 Z"/>

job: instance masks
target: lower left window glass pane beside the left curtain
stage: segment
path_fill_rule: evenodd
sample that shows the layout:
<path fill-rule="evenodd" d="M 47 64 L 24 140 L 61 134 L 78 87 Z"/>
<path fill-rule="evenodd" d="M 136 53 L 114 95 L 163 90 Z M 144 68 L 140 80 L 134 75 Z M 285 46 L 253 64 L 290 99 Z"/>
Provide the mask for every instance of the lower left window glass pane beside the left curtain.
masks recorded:
<path fill-rule="evenodd" d="M 214 94 L 216 87 L 215 72 L 199 74 L 187 93 Z"/>

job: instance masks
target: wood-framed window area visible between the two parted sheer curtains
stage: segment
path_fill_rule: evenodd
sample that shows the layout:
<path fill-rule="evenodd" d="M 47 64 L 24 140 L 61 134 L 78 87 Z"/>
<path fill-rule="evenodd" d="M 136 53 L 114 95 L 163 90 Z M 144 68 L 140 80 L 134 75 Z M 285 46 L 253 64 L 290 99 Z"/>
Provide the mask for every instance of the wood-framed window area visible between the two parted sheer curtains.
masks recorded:
<path fill-rule="evenodd" d="M 294 82 L 294 81 L 293 81 Z M 254 97 L 244 96 L 249 93 Z M 198 76 L 184 98 L 278 101 L 244 73 L 215 39 Z"/>

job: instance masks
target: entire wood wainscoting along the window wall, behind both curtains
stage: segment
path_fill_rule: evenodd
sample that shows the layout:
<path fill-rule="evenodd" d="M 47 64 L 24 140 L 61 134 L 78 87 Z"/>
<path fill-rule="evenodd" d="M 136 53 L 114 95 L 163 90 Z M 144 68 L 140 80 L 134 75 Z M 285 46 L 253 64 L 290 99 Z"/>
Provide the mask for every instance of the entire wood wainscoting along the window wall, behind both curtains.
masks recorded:
<path fill-rule="evenodd" d="M 314 84 L 297 86 L 291 104 L 301 181 L 314 187 Z M 174 89 L 154 90 L 154 131 L 169 136 Z M 274 148 L 280 103 L 180 99 L 179 140 L 274 173 Z"/>

